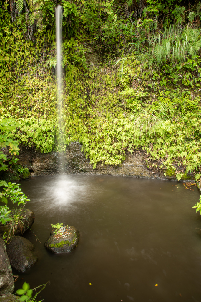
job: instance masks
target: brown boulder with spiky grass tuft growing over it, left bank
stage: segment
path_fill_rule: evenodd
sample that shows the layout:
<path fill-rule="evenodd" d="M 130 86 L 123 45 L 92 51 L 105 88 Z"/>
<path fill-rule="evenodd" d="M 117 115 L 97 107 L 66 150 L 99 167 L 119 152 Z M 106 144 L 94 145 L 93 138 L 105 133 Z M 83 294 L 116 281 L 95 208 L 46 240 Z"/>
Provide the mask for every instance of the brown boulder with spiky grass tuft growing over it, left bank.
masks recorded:
<path fill-rule="evenodd" d="M 35 219 L 34 211 L 23 209 L 21 214 L 24 216 L 24 219 L 22 219 L 23 223 L 25 224 L 23 228 L 21 228 L 20 224 L 17 224 L 17 227 L 14 231 L 14 235 L 23 235 L 23 233 L 32 226 Z M 6 232 L 6 235 L 8 236 L 10 230 L 10 223 L 6 225 L 0 225 L 0 234 L 4 234 Z M 11 234 L 12 236 L 12 234 Z"/>

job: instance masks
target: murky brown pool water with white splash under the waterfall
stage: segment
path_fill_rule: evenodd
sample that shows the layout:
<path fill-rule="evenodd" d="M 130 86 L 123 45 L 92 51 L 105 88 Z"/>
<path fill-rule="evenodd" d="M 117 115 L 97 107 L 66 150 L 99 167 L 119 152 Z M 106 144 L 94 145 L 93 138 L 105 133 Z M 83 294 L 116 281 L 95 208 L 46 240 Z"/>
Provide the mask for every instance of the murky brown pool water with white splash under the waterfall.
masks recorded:
<path fill-rule="evenodd" d="M 201 302 L 196 188 L 92 175 L 32 178 L 21 187 L 31 199 L 27 208 L 35 211 L 32 230 L 41 244 L 30 231 L 24 234 L 39 261 L 20 274 L 15 289 L 24 281 L 34 288 L 50 280 L 40 295 L 45 302 Z M 70 254 L 54 255 L 43 246 L 50 224 L 58 222 L 80 231 Z"/>

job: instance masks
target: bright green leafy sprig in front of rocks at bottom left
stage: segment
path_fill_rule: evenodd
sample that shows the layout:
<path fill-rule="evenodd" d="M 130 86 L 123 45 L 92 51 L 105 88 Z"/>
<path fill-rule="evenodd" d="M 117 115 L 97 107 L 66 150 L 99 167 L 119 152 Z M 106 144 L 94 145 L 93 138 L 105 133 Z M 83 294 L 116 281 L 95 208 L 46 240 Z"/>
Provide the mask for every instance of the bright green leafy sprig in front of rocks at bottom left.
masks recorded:
<path fill-rule="evenodd" d="M 49 281 L 46 284 L 42 284 L 37 286 L 34 289 L 30 289 L 30 285 L 27 282 L 24 282 L 24 284 L 22 285 L 22 288 L 18 289 L 16 291 L 17 295 L 20 295 L 20 301 L 29 301 L 29 302 L 36 302 L 38 300 L 37 296 L 38 294 L 40 294 L 40 292 L 46 287 L 46 285 L 49 283 Z M 40 288 L 40 290 L 37 292 L 36 289 Z M 33 296 L 33 291 L 35 290 L 36 294 Z M 39 302 L 41 302 L 43 300 L 40 300 Z"/>

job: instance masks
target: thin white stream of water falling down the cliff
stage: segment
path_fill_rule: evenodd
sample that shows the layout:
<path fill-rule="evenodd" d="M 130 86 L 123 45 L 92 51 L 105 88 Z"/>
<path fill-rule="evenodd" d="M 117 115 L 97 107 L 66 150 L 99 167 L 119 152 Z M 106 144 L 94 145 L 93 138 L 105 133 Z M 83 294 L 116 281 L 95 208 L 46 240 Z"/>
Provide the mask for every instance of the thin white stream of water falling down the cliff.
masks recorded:
<path fill-rule="evenodd" d="M 61 71 L 61 43 L 62 43 L 62 17 L 63 10 L 62 6 L 58 5 L 55 8 L 56 15 L 56 53 L 57 53 L 57 65 L 56 65 L 56 76 L 57 76 L 57 108 L 58 108 L 58 120 L 59 120 L 59 134 L 58 134 L 58 145 L 61 148 L 62 144 L 62 71 Z M 64 169 L 64 158 L 63 153 L 59 156 L 59 170 L 62 172 Z"/>

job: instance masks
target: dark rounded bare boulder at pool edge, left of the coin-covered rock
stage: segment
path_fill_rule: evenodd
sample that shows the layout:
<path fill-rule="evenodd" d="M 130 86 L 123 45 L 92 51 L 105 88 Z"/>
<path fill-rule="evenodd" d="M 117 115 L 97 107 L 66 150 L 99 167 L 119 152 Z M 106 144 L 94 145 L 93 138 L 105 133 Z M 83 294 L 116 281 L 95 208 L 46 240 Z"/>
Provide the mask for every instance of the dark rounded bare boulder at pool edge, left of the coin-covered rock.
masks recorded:
<path fill-rule="evenodd" d="M 35 246 L 21 236 L 13 236 L 7 247 L 7 254 L 11 266 L 15 271 L 24 272 L 37 261 L 34 253 Z"/>

